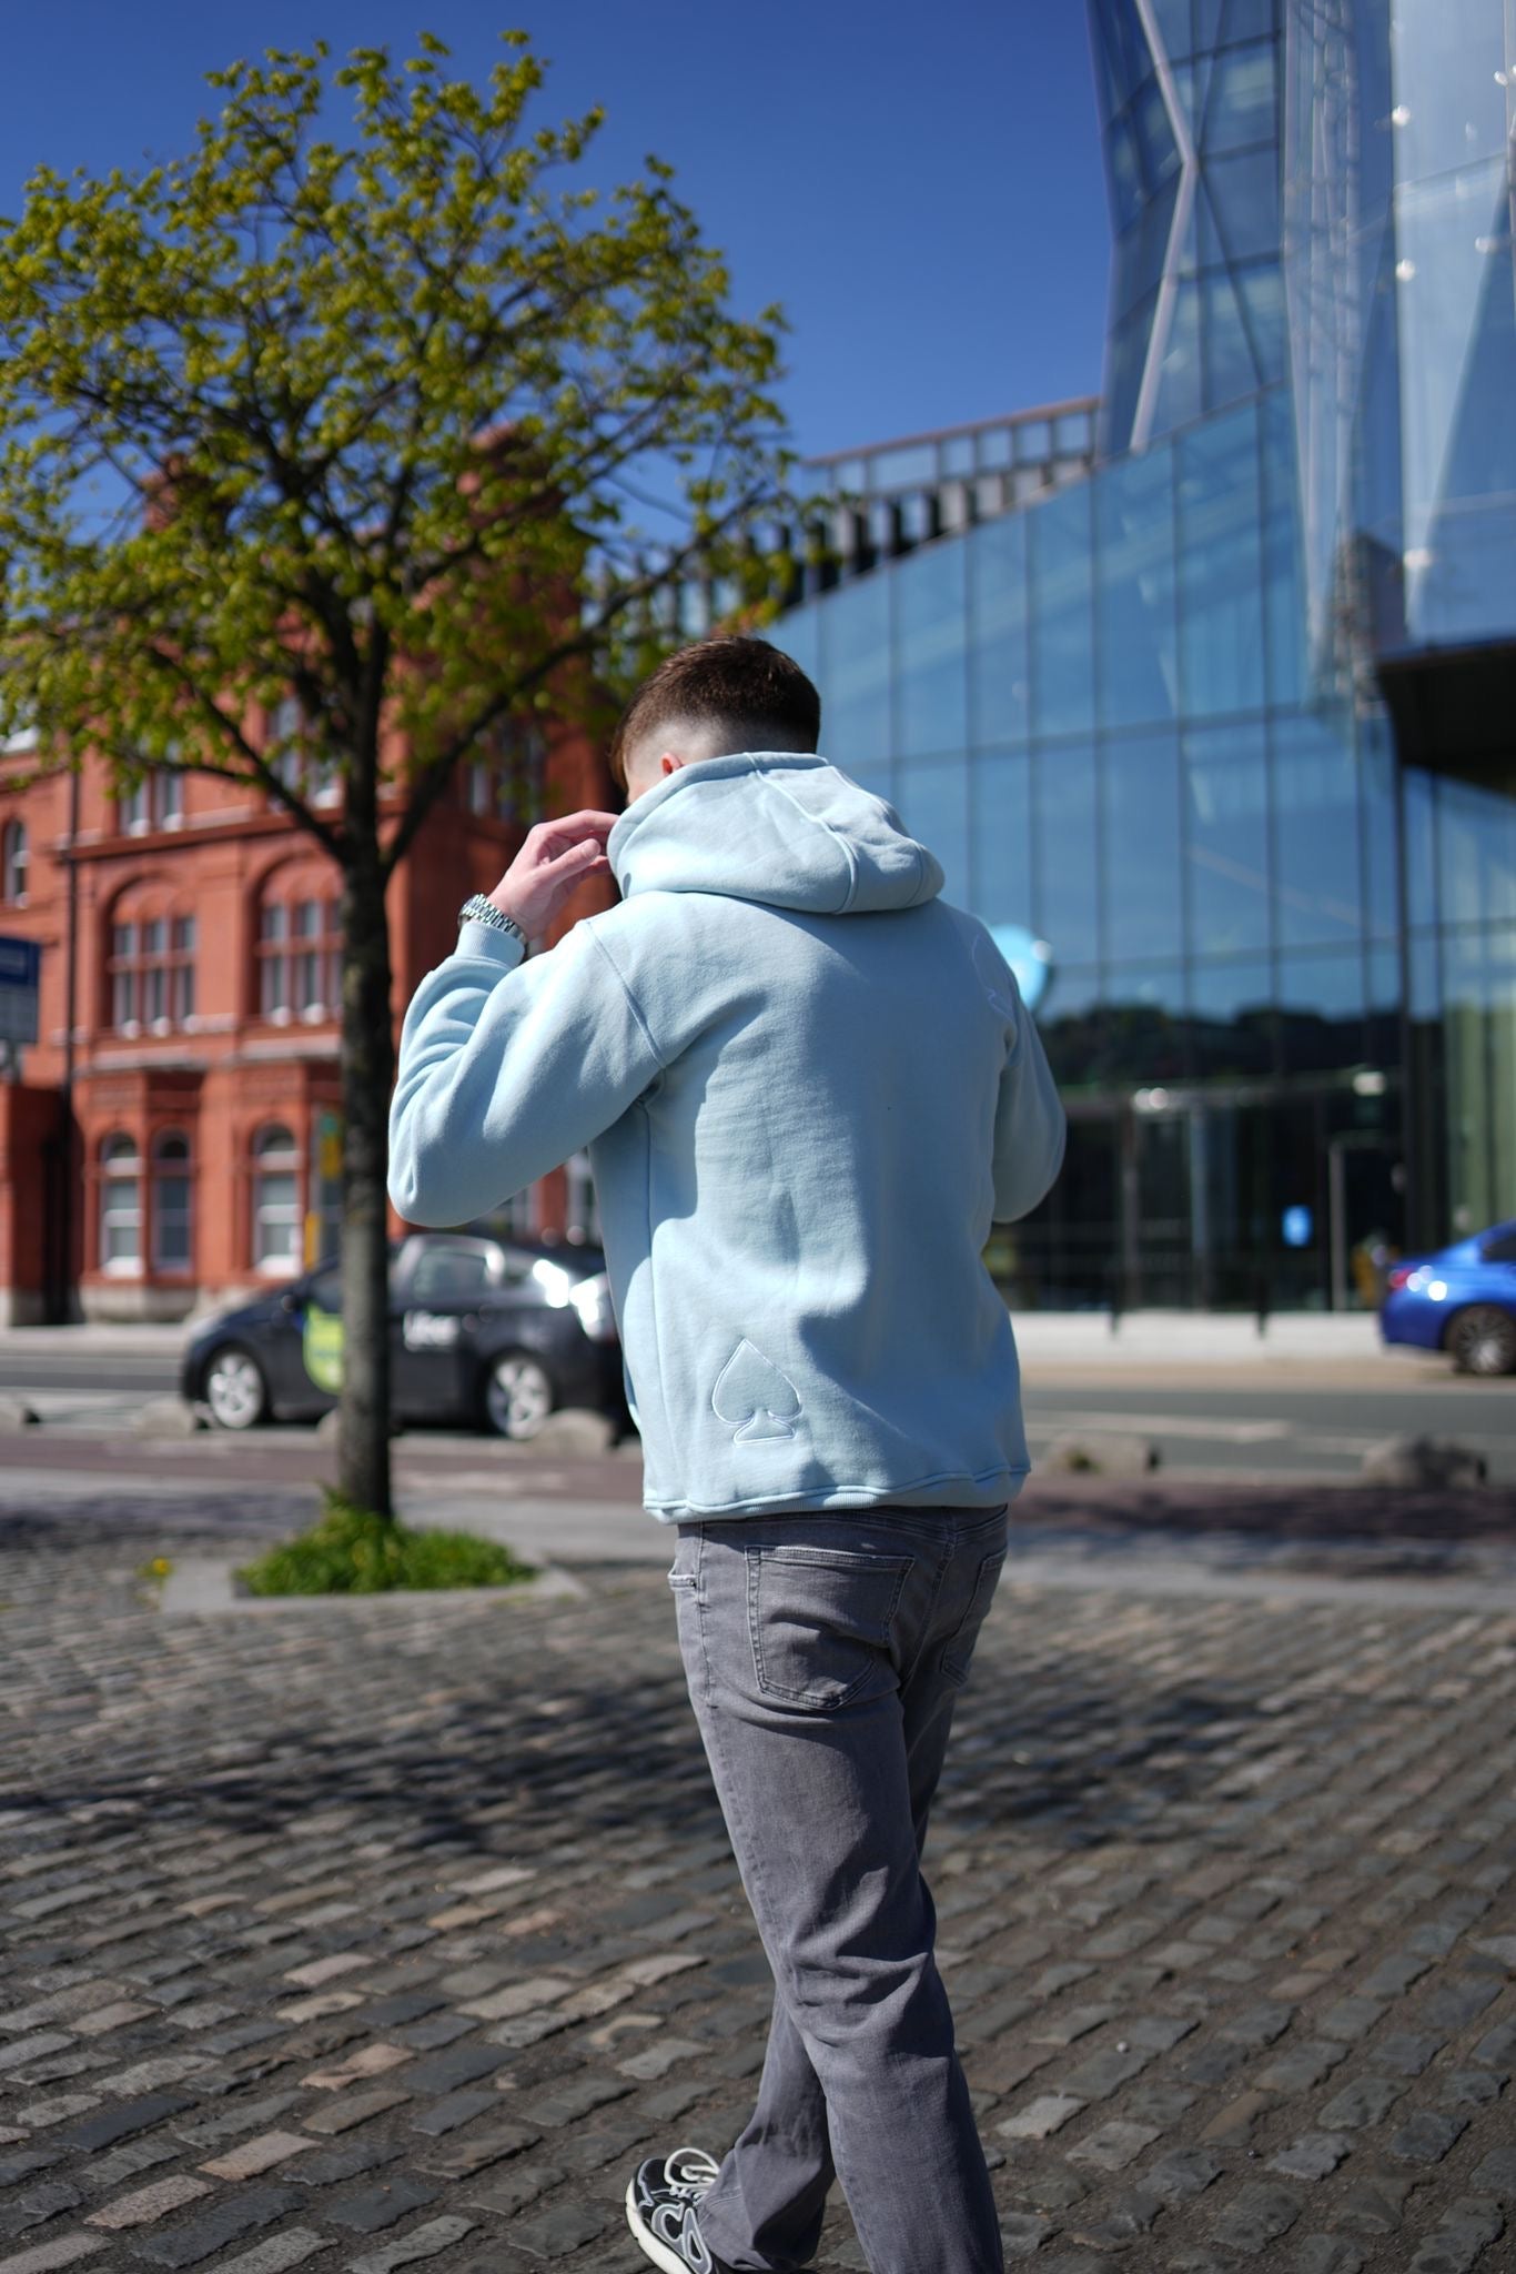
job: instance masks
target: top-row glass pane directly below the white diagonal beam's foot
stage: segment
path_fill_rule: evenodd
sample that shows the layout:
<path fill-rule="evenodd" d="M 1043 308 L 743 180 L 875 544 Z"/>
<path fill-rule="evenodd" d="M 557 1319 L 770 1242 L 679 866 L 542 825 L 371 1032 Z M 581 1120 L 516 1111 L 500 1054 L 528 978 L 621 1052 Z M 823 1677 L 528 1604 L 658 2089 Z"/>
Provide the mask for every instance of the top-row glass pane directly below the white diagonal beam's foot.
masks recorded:
<path fill-rule="evenodd" d="M 1148 725 L 1180 694 L 1173 562 L 1173 453 L 1121 459 L 1093 482 L 1100 530 L 1100 716 Z"/>

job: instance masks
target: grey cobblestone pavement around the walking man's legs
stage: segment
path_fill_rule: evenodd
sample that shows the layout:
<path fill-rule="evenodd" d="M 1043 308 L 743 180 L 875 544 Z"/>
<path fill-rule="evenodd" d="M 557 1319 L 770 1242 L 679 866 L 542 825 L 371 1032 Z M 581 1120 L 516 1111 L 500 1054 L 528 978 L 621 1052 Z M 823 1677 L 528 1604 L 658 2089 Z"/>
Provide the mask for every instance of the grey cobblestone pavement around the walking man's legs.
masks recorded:
<path fill-rule="evenodd" d="M 627 2169 L 730 2140 L 768 2008 L 661 1574 L 136 1576 L 286 1519 L 0 1517 L 0 2274 L 630 2274 Z M 1509 1594 L 1014 1569 L 930 1851 L 1009 2260 L 1516 2265 Z"/>

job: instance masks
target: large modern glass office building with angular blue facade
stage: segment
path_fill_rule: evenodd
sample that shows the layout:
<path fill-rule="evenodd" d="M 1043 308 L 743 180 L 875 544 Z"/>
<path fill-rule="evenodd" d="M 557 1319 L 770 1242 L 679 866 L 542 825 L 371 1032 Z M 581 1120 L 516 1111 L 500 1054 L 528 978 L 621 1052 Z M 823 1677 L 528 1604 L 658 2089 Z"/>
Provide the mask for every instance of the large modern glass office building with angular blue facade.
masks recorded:
<path fill-rule="evenodd" d="M 1036 1016 L 1023 1298 L 1350 1305 L 1516 1214 L 1516 20 L 1091 0 L 1105 391 L 818 473 L 825 750 Z"/>

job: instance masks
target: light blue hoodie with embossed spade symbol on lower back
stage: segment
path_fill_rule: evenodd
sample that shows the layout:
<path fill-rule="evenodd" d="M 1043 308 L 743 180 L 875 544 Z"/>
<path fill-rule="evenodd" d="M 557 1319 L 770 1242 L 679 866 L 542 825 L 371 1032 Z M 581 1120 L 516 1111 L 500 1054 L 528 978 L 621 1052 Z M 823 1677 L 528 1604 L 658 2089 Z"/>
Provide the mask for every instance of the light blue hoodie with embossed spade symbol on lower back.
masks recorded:
<path fill-rule="evenodd" d="M 416 989 L 395 1207 L 464 1223 L 589 1146 L 666 1521 L 1011 1499 L 980 1251 L 1048 1192 L 1064 1112 L 989 932 L 821 757 L 684 766 L 609 857 L 620 907 L 530 962 L 466 923 Z"/>

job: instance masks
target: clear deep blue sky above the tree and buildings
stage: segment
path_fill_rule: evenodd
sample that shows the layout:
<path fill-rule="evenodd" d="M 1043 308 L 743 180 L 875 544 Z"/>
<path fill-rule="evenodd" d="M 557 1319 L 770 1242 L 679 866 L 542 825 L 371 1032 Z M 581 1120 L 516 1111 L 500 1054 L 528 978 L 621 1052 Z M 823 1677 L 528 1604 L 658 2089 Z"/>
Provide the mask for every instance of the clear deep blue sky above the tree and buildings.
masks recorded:
<path fill-rule="evenodd" d="M 595 173 L 668 159 L 743 309 L 791 321 L 800 450 L 989 418 L 1100 384 L 1105 186 L 1084 7 L 1059 0 L 52 0 L 7 9 L 0 211 L 30 168 L 182 150 L 234 55 L 325 36 L 468 70 L 502 25 L 607 109 Z"/>

